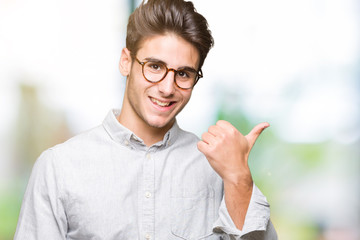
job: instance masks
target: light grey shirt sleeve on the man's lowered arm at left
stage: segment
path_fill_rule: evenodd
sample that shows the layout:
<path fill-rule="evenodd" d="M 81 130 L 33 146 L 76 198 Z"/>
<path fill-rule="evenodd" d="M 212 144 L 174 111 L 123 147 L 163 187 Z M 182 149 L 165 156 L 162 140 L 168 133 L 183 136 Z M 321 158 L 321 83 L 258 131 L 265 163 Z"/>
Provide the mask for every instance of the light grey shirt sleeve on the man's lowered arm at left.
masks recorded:
<path fill-rule="evenodd" d="M 14 240 L 66 239 L 67 221 L 57 171 L 54 151 L 45 151 L 33 167 Z"/>

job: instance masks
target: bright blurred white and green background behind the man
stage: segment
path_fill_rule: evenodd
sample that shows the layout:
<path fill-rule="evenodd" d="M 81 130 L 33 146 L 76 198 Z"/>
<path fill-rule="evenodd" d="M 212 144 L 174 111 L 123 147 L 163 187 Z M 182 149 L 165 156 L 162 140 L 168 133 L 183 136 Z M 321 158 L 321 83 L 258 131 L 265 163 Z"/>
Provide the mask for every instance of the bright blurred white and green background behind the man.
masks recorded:
<path fill-rule="evenodd" d="M 179 115 L 247 134 L 279 239 L 360 239 L 360 2 L 200 1 L 215 38 Z M 122 103 L 131 0 L 0 0 L 0 240 L 12 239 L 32 165 Z M 194 114 L 195 113 L 195 114 Z"/>

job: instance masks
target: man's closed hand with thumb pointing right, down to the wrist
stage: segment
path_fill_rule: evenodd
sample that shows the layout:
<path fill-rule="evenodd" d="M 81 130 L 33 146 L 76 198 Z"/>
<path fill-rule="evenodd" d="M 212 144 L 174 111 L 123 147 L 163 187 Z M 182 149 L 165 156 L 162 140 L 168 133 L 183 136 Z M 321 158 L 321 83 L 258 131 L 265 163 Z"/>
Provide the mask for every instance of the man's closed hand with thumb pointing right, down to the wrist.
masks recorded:
<path fill-rule="evenodd" d="M 269 126 L 268 123 L 260 123 L 244 136 L 229 122 L 220 120 L 202 135 L 198 149 L 224 183 L 252 187 L 248 157 L 256 139 Z"/>

